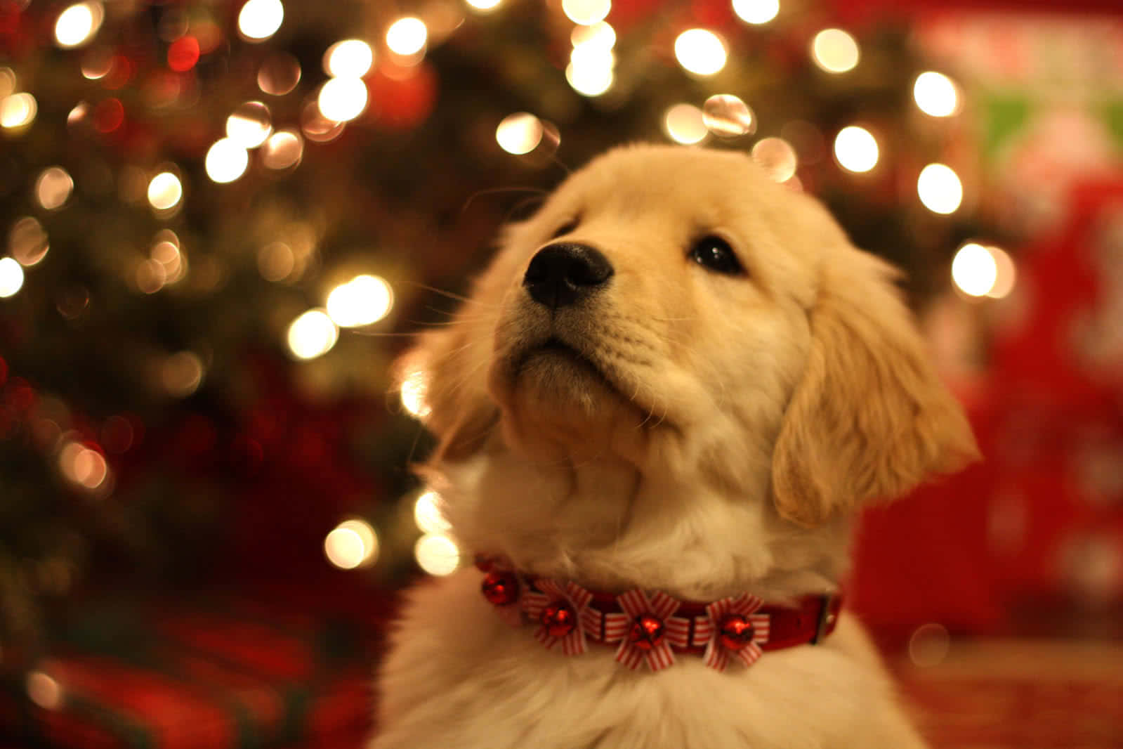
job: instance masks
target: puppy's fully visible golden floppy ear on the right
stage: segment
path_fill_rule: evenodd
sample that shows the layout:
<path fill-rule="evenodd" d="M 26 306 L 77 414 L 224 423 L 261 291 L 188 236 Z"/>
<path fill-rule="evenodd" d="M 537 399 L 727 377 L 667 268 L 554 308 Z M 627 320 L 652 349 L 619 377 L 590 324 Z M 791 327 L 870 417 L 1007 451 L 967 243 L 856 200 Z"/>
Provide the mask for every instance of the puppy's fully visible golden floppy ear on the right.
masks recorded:
<path fill-rule="evenodd" d="M 773 454 L 777 510 L 804 526 L 978 458 L 964 411 L 893 286 L 894 271 L 849 245 L 832 250 L 810 313 L 806 371 Z"/>

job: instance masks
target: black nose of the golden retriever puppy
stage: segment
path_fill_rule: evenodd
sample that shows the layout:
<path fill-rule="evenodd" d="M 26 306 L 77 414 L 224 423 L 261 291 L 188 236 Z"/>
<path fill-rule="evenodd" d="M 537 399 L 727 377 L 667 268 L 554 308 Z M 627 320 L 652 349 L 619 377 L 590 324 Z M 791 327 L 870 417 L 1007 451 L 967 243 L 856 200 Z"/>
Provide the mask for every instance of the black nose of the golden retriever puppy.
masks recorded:
<path fill-rule="evenodd" d="M 575 304 L 612 277 L 612 264 L 587 245 L 559 241 L 538 250 L 522 277 L 530 298 L 550 309 Z"/>

